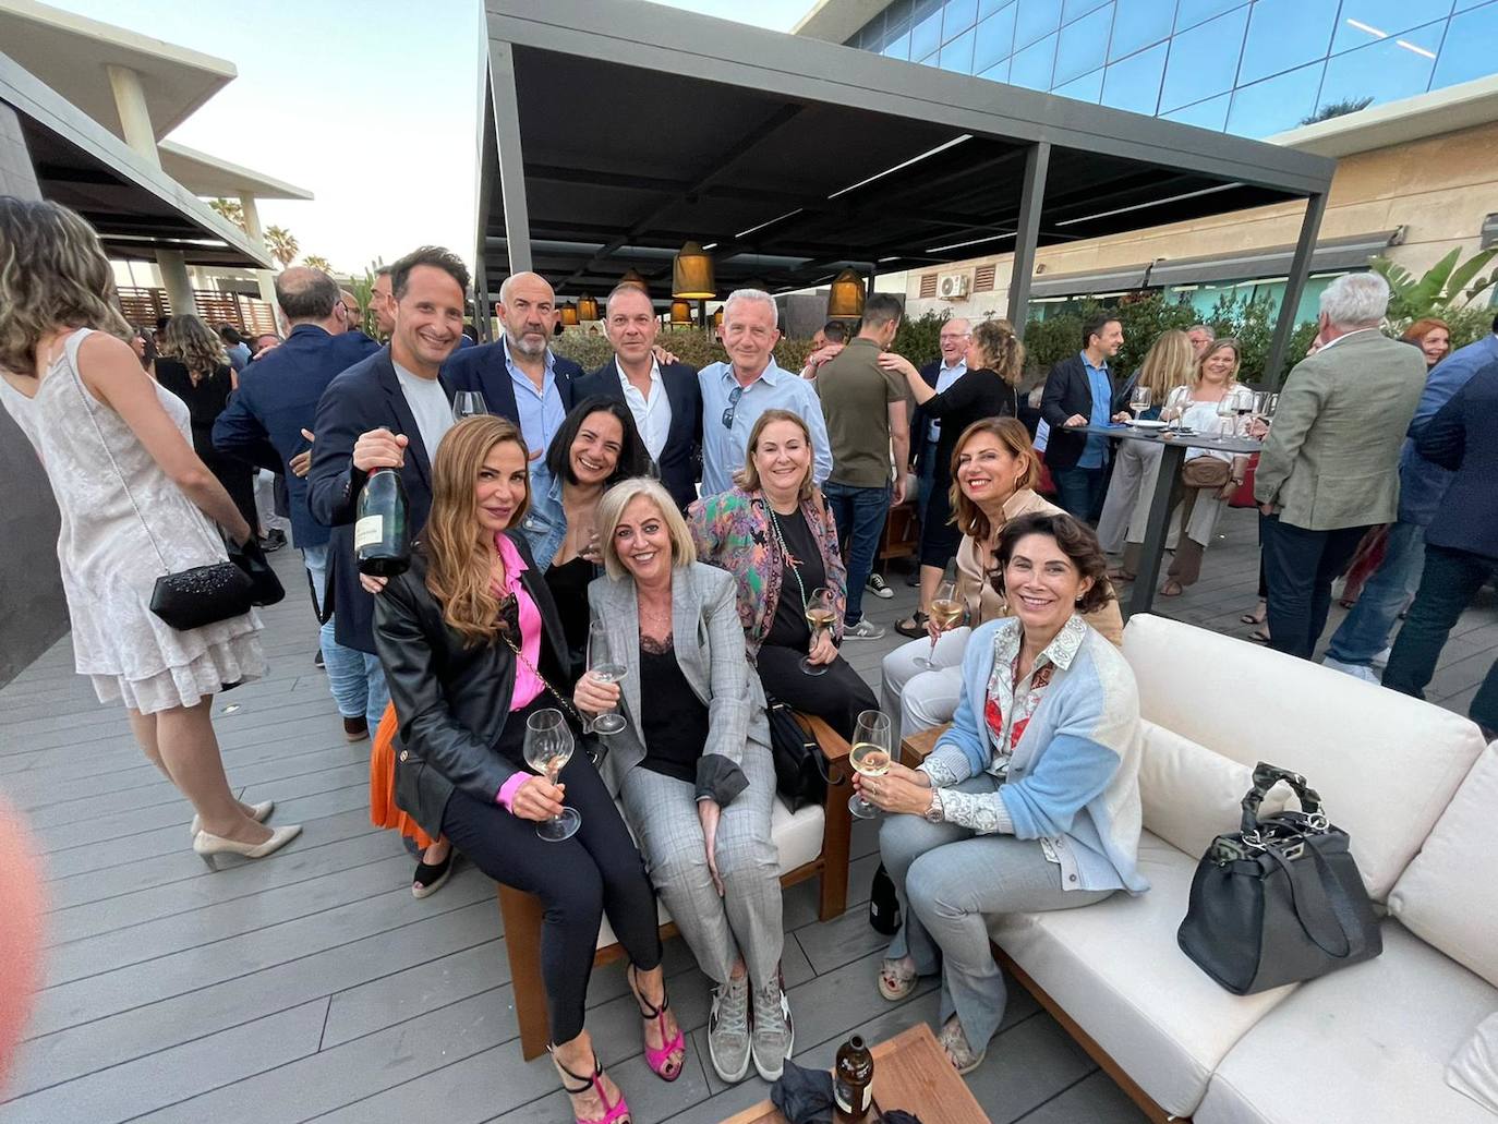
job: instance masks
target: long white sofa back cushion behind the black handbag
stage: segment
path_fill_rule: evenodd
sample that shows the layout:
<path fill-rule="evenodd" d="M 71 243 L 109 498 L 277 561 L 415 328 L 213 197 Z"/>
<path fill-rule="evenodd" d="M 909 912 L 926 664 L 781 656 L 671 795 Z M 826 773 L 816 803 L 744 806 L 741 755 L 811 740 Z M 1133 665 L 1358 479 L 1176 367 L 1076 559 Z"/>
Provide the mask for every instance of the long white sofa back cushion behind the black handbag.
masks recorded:
<path fill-rule="evenodd" d="M 1383 901 L 1483 751 L 1471 721 L 1246 640 L 1140 614 L 1124 629 L 1140 713 L 1234 761 L 1294 769 Z"/>

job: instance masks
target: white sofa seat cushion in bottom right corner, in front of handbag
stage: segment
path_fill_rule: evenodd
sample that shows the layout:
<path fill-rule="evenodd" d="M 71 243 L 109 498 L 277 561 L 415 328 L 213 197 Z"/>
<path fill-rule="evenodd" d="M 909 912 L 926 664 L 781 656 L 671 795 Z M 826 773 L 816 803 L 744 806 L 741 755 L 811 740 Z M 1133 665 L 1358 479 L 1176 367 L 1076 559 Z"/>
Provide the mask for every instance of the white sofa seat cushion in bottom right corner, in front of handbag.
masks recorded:
<path fill-rule="evenodd" d="M 1212 1076 L 1197 1124 L 1494 1124 L 1446 1066 L 1498 991 L 1384 923 L 1384 955 L 1300 985 Z"/>

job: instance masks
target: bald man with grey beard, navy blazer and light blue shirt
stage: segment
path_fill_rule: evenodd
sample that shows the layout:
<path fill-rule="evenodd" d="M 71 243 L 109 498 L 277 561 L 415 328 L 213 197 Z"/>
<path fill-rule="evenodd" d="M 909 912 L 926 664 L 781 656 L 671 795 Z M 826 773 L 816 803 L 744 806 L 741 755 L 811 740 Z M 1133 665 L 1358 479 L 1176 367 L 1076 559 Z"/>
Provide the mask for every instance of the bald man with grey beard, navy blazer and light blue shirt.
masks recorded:
<path fill-rule="evenodd" d="M 491 414 L 520 426 L 530 453 L 530 487 L 548 484 L 547 448 L 575 400 L 572 381 L 583 369 L 551 352 L 557 322 L 556 294 L 545 277 L 515 273 L 499 286 L 496 307 L 505 337 L 464 348 L 442 367 L 449 391 L 476 390 Z"/>

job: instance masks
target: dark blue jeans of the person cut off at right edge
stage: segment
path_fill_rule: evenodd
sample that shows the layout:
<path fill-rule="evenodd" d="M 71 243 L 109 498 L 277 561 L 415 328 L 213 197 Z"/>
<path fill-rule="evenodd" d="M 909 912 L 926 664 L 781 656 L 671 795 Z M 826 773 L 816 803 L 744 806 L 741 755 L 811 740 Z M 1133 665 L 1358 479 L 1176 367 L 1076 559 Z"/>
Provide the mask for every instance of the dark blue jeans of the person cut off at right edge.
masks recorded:
<path fill-rule="evenodd" d="M 1420 590 L 1395 640 L 1395 650 L 1384 670 L 1384 686 L 1425 698 L 1425 688 L 1435 674 L 1435 662 L 1452 628 L 1495 571 L 1498 571 L 1495 559 L 1470 555 L 1465 550 L 1426 546 Z M 1477 725 L 1498 730 L 1498 662 L 1488 668 L 1488 676 L 1473 695 L 1467 713 Z"/>

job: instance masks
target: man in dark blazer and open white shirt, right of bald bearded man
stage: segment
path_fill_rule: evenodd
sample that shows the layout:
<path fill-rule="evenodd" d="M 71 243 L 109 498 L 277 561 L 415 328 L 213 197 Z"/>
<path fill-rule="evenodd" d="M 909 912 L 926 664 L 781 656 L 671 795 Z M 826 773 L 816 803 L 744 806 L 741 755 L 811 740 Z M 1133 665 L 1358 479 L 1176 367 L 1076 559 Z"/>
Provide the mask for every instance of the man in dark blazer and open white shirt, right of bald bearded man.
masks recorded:
<path fill-rule="evenodd" d="M 703 445 L 703 388 L 697 367 L 656 360 L 661 321 L 638 285 L 620 285 L 608 294 L 604 331 L 614 358 L 574 384 L 577 400 L 602 394 L 629 406 L 640 439 L 661 469 L 661 483 L 686 511 L 697 499 Z"/>

